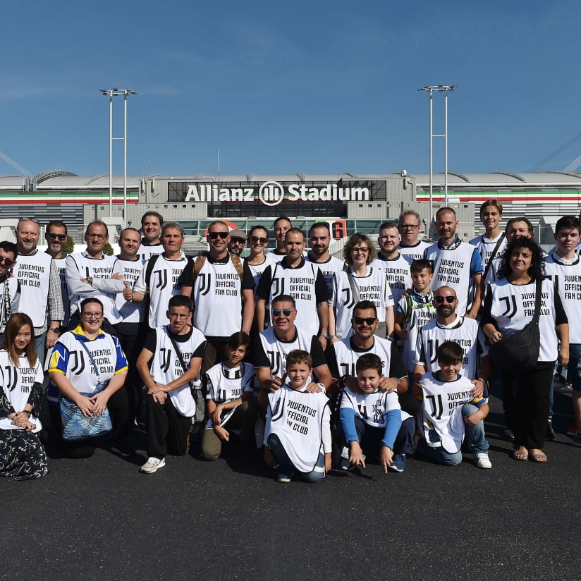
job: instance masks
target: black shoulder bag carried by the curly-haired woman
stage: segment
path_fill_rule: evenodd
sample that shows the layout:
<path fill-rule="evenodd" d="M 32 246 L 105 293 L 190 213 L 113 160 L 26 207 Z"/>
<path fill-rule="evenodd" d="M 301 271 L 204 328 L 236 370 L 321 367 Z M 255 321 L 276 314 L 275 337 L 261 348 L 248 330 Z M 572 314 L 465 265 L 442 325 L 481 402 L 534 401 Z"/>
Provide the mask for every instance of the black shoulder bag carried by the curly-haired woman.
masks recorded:
<path fill-rule="evenodd" d="M 490 345 L 489 354 L 503 371 L 530 371 L 539 360 L 541 332 L 539 314 L 541 312 L 542 280 L 537 279 L 532 320 L 515 334 L 503 333 L 498 343 Z"/>

